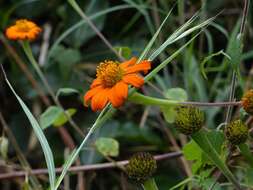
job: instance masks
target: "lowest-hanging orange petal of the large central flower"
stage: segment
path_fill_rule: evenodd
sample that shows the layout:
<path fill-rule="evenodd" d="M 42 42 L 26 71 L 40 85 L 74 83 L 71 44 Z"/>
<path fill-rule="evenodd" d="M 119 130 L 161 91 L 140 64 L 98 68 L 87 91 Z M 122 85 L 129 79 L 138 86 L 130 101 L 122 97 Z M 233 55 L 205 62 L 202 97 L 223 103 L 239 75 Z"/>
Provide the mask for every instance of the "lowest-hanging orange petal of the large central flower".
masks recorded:
<path fill-rule="evenodd" d="M 93 111 L 102 110 L 107 102 L 108 102 L 108 89 L 103 89 L 92 97 L 91 109 Z"/>

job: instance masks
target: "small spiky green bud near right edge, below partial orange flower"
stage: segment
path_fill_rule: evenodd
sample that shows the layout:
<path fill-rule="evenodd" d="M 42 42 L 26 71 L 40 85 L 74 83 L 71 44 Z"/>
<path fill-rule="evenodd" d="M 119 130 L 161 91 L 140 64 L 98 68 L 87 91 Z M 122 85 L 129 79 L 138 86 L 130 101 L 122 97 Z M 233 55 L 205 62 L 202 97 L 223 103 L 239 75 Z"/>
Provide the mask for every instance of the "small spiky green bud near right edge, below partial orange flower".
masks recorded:
<path fill-rule="evenodd" d="M 244 143 L 248 134 L 249 129 L 241 120 L 232 121 L 225 128 L 226 138 L 233 145 Z"/>

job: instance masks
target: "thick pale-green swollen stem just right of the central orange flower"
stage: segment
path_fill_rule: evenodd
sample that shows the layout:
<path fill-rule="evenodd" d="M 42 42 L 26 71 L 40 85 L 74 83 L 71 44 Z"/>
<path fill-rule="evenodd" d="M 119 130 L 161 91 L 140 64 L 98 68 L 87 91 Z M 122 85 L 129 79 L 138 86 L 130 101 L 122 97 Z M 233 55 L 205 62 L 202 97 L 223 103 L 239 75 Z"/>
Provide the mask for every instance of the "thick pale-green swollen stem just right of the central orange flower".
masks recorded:
<path fill-rule="evenodd" d="M 142 95 L 138 92 L 134 92 L 131 96 L 128 97 L 128 100 L 143 105 L 156 105 L 156 106 L 172 106 L 179 105 L 178 101 L 175 100 L 166 100 L 160 98 L 153 98 L 150 96 Z"/>

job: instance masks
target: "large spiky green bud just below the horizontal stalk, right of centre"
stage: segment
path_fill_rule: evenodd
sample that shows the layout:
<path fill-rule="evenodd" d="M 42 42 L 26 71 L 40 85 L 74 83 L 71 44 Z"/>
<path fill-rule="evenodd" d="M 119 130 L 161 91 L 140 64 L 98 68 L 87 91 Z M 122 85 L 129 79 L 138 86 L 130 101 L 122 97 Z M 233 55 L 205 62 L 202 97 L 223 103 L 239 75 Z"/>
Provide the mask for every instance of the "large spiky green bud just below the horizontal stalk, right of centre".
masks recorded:
<path fill-rule="evenodd" d="M 196 107 L 180 107 L 177 109 L 175 126 L 185 135 L 191 135 L 201 129 L 204 124 L 204 113 Z"/>

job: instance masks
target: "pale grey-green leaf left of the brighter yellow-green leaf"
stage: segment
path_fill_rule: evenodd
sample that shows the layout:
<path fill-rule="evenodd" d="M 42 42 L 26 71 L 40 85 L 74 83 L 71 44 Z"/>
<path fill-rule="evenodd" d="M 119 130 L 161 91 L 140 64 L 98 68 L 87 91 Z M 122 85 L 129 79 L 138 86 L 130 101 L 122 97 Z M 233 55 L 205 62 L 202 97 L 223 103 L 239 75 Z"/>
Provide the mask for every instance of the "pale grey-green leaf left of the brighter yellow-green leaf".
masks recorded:
<path fill-rule="evenodd" d="M 40 115 L 40 125 L 42 129 L 46 129 L 51 126 L 57 118 L 61 116 L 63 110 L 57 106 L 50 106 L 44 113 Z"/>

